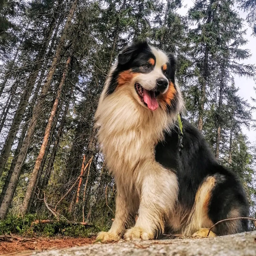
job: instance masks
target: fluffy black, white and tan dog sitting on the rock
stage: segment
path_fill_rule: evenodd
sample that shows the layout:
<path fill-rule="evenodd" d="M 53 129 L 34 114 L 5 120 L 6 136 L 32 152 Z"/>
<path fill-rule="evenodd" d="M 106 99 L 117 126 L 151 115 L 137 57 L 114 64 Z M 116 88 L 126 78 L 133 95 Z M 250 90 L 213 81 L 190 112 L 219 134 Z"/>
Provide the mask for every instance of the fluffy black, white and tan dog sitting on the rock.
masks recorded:
<path fill-rule="evenodd" d="M 176 60 L 147 42 L 119 53 L 95 114 L 97 138 L 117 189 L 115 219 L 98 240 L 148 240 L 165 230 L 207 236 L 219 220 L 248 216 L 235 173 L 215 159 L 192 124 L 175 81 Z M 135 215 L 137 220 L 135 221 Z M 210 236 L 243 232 L 248 220 L 221 222 Z"/>

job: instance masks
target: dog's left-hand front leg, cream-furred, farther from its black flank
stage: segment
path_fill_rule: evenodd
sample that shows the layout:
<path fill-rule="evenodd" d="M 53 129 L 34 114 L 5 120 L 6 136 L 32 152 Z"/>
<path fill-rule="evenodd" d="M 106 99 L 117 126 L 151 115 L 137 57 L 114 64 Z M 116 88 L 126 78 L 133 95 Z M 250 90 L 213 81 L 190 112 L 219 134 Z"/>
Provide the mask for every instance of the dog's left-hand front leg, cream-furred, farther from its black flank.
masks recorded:
<path fill-rule="evenodd" d="M 96 240 L 100 241 L 116 241 L 119 240 L 125 231 L 125 226 L 130 220 L 134 203 L 132 198 L 128 196 L 123 187 L 117 186 L 117 196 L 116 196 L 116 214 L 115 220 L 112 223 L 111 228 L 108 232 L 100 232 Z"/>

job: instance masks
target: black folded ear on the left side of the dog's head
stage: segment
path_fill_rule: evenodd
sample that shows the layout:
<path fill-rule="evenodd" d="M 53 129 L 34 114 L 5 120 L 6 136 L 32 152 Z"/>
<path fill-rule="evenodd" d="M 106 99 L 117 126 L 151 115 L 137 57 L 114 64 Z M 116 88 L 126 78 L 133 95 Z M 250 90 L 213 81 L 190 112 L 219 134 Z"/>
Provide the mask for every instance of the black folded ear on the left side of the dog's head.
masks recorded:
<path fill-rule="evenodd" d="M 147 41 L 132 43 L 132 45 L 125 47 L 124 50 L 118 54 L 118 64 L 127 64 L 137 56 L 138 52 L 141 52 L 143 48 L 148 47 Z"/>

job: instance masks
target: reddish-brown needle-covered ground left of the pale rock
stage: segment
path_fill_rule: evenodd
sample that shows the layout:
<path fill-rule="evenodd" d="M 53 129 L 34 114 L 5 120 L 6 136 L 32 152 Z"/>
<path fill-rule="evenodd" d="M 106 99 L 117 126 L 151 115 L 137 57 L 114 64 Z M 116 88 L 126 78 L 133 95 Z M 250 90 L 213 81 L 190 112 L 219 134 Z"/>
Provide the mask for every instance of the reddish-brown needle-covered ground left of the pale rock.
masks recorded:
<path fill-rule="evenodd" d="M 27 256 L 33 252 L 42 252 L 51 249 L 70 248 L 73 246 L 81 246 L 93 244 L 96 237 L 92 238 L 74 238 L 74 237 L 35 237 L 26 238 L 21 236 L 6 237 L 0 242 L 0 255 L 10 256 Z"/>

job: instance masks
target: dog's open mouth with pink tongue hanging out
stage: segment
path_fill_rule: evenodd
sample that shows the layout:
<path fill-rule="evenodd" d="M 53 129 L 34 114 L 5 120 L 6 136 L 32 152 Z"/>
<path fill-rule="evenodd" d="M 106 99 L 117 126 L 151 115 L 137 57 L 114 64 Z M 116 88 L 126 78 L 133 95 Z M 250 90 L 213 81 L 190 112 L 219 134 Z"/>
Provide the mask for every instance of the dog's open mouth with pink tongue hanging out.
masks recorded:
<path fill-rule="evenodd" d="M 148 91 L 139 83 L 136 83 L 134 87 L 144 105 L 146 105 L 150 110 L 156 110 L 156 108 L 158 108 L 159 105 L 156 100 L 156 97 L 159 95 L 158 91 Z"/>

